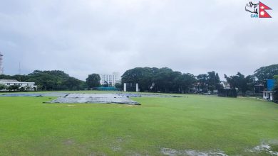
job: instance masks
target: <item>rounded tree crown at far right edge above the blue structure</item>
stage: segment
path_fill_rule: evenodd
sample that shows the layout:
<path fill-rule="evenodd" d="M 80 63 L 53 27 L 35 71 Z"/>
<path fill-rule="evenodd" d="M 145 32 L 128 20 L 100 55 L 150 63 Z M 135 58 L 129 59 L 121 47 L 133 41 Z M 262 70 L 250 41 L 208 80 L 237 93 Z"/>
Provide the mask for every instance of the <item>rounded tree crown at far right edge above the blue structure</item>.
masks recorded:
<path fill-rule="evenodd" d="M 274 75 L 278 75 L 278 64 L 260 67 L 254 71 L 254 77 L 257 77 L 258 82 L 264 84 L 267 79 L 273 79 Z"/>

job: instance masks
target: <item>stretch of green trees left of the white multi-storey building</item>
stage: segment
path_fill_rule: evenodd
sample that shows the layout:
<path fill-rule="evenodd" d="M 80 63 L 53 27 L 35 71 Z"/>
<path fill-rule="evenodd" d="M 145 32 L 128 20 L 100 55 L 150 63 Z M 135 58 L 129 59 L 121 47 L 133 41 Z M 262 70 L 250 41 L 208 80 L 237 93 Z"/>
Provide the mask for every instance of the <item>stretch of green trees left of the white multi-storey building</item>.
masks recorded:
<path fill-rule="evenodd" d="M 70 77 L 61 70 L 35 70 L 27 75 L 5 75 L 1 74 L 0 79 L 15 79 L 19 82 L 35 82 L 39 91 L 75 91 L 91 89 L 101 86 L 101 77 L 99 74 L 89 74 L 86 82 Z M 11 85 L 9 87 L 0 84 L 0 90 L 7 89 L 9 91 L 24 91 L 24 88 Z"/>

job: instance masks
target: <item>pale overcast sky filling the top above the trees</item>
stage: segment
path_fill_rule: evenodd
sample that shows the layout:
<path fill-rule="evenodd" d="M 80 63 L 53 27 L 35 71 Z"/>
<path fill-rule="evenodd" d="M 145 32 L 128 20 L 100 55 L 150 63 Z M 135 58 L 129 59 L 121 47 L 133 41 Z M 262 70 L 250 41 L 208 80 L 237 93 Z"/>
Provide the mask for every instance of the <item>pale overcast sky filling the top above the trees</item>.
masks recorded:
<path fill-rule="evenodd" d="M 59 69 L 78 79 L 133 67 L 252 74 L 278 64 L 278 1 L 0 0 L 4 74 Z M 253 1 L 254 3 L 257 1 Z"/>

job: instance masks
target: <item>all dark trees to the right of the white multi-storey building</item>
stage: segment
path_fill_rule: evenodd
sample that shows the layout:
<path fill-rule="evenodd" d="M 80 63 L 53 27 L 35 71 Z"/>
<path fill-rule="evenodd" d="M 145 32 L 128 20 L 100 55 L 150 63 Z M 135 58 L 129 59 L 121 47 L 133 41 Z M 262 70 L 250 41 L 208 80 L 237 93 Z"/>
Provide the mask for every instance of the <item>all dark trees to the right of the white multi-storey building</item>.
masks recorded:
<path fill-rule="evenodd" d="M 274 79 L 275 75 L 278 75 L 278 65 L 260 67 L 254 74 L 246 77 L 240 72 L 231 76 L 225 74 L 225 79 L 231 89 L 238 89 L 244 95 L 247 91 L 253 91 L 255 84 L 263 84 L 266 87 L 267 79 Z M 223 89 L 220 77 L 215 71 L 194 76 L 190 73 L 173 71 L 168 67 L 129 69 L 123 74 L 122 83 L 138 83 L 140 91 L 187 93 L 192 87 L 202 92 Z"/>

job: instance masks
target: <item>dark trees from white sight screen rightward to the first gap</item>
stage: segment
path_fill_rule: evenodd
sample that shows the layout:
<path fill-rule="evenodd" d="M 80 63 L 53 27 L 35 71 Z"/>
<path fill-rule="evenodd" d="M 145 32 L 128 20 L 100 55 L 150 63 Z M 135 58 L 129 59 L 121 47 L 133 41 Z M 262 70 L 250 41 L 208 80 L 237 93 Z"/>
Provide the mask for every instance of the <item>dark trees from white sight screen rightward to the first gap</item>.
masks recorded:
<path fill-rule="evenodd" d="M 138 83 L 140 91 L 160 91 L 187 93 L 195 86 L 202 90 L 220 89 L 220 77 L 217 72 L 208 72 L 195 77 L 190 73 L 173 71 L 168 67 L 136 67 L 122 76 L 122 83 Z"/>

